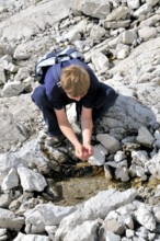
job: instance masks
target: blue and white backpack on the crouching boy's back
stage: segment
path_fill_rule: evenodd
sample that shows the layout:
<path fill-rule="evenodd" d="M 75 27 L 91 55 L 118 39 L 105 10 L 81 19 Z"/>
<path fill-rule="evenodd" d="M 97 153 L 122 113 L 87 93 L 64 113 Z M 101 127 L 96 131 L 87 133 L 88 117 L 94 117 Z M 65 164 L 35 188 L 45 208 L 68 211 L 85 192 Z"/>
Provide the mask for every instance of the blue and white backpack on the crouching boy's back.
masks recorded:
<path fill-rule="evenodd" d="M 39 83 L 44 83 L 45 74 L 48 68 L 53 65 L 56 66 L 56 71 L 54 72 L 55 79 L 59 79 L 60 77 L 60 62 L 69 61 L 70 59 L 80 59 L 84 60 L 83 54 L 73 48 L 65 48 L 58 51 L 50 51 L 38 59 L 35 65 L 35 79 Z"/>

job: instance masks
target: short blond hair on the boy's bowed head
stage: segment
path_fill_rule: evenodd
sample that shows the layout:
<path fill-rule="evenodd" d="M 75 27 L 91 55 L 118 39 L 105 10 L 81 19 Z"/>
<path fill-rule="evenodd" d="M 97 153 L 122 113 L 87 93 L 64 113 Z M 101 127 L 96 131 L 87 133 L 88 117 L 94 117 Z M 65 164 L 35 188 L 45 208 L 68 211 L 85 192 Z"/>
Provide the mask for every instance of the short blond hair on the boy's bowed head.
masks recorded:
<path fill-rule="evenodd" d="M 90 77 L 85 69 L 71 65 L 62 69 L 60 82 L 70 96 L 84 96 L 90 87 Z"/>

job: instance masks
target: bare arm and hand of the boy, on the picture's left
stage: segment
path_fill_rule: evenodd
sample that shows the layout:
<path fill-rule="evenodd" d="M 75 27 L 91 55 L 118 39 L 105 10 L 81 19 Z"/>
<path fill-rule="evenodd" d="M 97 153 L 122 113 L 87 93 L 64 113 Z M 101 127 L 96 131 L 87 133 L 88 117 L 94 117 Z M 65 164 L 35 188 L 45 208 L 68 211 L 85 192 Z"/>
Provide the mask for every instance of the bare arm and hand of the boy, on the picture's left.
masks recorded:
<path fill-rule="evenodd" d="M 55 110 L 59 128 L 61 133 L 67 137 L 67 139 L 73 145 L 76 150 L 76 156 L 82 160 L 83 147 L 78 140 L 76 134 L 73 133 L 70 123 L 68 122 L 65 110 Z"/>

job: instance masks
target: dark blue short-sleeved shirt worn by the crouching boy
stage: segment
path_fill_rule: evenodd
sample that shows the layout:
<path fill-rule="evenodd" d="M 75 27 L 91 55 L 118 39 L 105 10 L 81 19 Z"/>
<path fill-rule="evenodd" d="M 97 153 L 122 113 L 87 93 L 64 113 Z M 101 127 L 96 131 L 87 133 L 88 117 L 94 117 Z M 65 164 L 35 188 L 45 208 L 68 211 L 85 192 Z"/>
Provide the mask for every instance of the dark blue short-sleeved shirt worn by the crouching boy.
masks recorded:
<path fill-rule="evenodd" d="M 84 68 L 88 71 L 89 77 L 90 77 L 90 87 L 89 87 L 88 93 L 81 99 L 81 103 L 82 103 L 82 106 L 87 108 L 92 108 L 94 100 L 96 99 L 96 93 L 98 93 L 99 85 L 100 85 L 99 84 L 100 82 L 98 78 L 95 77 L 93 70 L 87 64 L 78 59 L 76 61 L 75 59 L 71 59 L 69 61 L 61 62 L 60 65 L 61 65 L 61 69 L 70 65 L 77 65 L 77 66 Z M 52 66 L 47 70 L 46 76 L 45 76 L 46 95 L 54 108 L 61 110 L 67 104 L 76 102 L 76 101 L 68 97 L 66 92 L 60 87 L 60 76 L 58 78 L 58 74 L 57 74 L 57 78 L 54 78 L 55 76 L 53 73 L 54 71 L 57 71 L 55 65 Z"/>

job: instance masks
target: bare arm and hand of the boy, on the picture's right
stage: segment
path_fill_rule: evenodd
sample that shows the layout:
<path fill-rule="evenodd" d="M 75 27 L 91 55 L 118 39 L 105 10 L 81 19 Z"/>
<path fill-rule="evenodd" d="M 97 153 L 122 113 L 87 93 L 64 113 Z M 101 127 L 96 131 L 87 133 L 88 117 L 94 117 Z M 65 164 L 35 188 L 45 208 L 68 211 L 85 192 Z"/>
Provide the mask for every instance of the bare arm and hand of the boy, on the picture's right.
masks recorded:
<path fill-rule="evenodd" d="M 88 158 L 89 158 L 93 154 L 93 147 L 91 146 L 92 128 L 93 128 L 92 108 L 85 108 L 82 106 L 81 128 L 82 128 L 83 147 L 88 150 Z"/>

